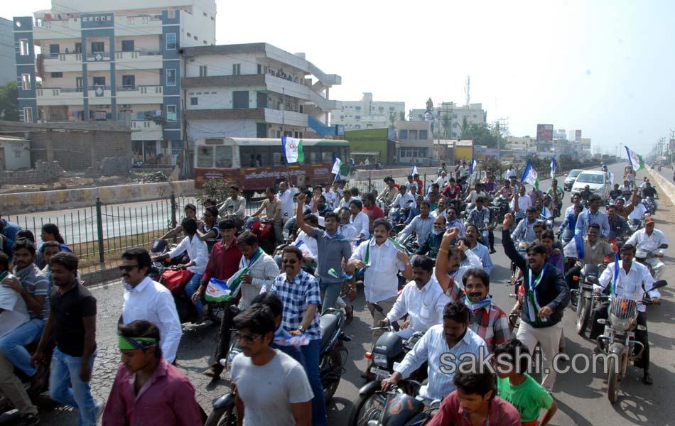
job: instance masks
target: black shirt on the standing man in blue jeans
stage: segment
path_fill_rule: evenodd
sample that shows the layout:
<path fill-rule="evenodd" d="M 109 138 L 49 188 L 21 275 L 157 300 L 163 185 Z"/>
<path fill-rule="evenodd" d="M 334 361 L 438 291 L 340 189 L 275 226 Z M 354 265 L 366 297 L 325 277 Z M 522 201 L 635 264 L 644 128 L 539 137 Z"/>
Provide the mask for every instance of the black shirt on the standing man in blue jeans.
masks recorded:
<path fill-rule="evenodd" d="M 84 285 L 77 283 L 67 292 L 58 293 L 52 286 L 49 302 L 54 316 L 54 338 L 59 351 L 70 356 L 82 356 L 85 347 L 83 317 L 96 316 L 96 299 Z"/>

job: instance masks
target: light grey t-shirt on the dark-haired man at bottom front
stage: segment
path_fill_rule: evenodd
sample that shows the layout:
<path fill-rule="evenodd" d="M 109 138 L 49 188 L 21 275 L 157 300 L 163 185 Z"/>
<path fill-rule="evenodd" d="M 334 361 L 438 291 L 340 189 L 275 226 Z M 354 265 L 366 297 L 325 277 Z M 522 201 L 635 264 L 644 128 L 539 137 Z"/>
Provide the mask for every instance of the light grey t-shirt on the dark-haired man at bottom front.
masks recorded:
<path fill-rule="evenodd" d="M 232 360 L 232 382 L 244 402 L 244 426 L 295 426 L 291 404 L 314 396 L 303 366 L 274 351 L 276 356 L 264 366 L 254 365 L 243 353 Z"/>

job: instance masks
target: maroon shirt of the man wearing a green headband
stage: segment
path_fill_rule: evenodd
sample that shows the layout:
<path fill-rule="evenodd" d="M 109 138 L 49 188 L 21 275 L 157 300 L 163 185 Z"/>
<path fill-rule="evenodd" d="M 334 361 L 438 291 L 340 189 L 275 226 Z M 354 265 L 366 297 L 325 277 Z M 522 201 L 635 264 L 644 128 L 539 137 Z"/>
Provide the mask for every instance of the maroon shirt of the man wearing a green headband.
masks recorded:
<path fill-rule="evenodd" d="M 105 405 L 104 426 L 203 425 L 195 388 L 164 358 L 138 395 L 135 380 L 136 373 L 120 364 Z"/>

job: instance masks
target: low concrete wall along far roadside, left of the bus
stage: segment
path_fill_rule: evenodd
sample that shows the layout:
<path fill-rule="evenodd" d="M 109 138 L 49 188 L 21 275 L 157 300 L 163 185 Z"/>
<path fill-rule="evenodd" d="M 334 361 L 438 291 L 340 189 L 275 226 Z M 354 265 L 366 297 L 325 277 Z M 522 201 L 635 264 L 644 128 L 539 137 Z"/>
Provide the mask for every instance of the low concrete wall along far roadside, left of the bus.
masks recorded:
<path fill-rule="evenodd" d="M 0 206 L 2 206 L 3 214 L 25 214 L 26 212 L 90 207 L 95 204 L 97 198 L 104 204 L 160 200 L 170 197 L 171 192 L 174 192 L 177 197 L 194 195 L 195 181 L 180 180 L 77 190 L 0 194 Z"/>

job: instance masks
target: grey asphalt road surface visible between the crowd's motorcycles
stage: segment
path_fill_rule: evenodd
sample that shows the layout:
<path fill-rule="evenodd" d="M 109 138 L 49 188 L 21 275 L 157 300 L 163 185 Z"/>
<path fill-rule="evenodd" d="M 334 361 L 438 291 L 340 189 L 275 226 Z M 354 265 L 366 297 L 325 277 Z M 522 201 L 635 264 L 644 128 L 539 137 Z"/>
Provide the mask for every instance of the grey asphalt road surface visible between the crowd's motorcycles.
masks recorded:
<path fill-rule="evenodd" d="M 619 173 L 623 165 L 612 165 L 610 170 Z M 641 173 L 638 174 L 642 179 Z M 549 187 L 549 182 L 542 182 L 542 189 Z M 568 204 L 569 193 L 566 193 L 565 204 Z M 666 217 L 675 217 L 675 207 L 667 200 L 662 200 L 662 208 L 655 218 L 657 229 L 665 232 L 670 241 L 675 240 L 675 226 L 666 224 Z M 672 221 L 671 221 L 672 222 Z M 509 278 L 509 261 L 500 249 L 500 232 L 496 233 L 498 252 L 492 255 L 495 268 L 492 270 L 492 286 L 490 293 L 493 300 L 504 310 L 512 307 L 508 297 L 512 288 L 506 285 Z M 671 249 L 672 251 L 672 249 Z M 668 253 L 666 253 L 668 254 Z M 675 272 L 671 256 L 666 256 L 665 277 Z M 119 282 L 97 285 L 92 288 L 97 297 L 97 344 L 98 356 L 92 378 L 92 388 L 96 398 L 105 399 L 109 393 L 117 370 L 119 351 L 115 327 L 121 311 L 122 286 Z M 617 426 L 617 425 L 673 425 L 675 424 L 675 360 L 672 356 L 675 342 L 675 330 L 672 322 L 675 319 L 675 298 L 672 288 L 662 291 L 663 300 L 659 307 L 649 307 L 649 340 L 652 345 L 652 375 L 654 385 L 642 384 L 642 371 L 630 367 L 627 378 L 621 383 L 620 397 L 615 405 L 607 400 L 607 385 L 603 373 L 568 373 L 558 374 L 554 398 L 558 404 L 551 425 L 557 426 Z M 360 372 L 366 366 L 363 357 L 369 350 L 370 317 L 365 308 L 365 300 L 360 293 L 354 302 L 354 322 L 347 326 L 346 333 L 352 337 L 347 342 L 349 357 L 346 372 L 342 376 L 340 387 L 333 401 L 328 405 L 330 425 L 345 425 L 352 408 L 352 401 L 357 398 L 357 390 L 364 384 Z M 566 334 L 566 353 L 585 354 L 590 356 L 593 344 L 582 339 L 574 332 L 575 315 L 566 310 L 563 318 Z M 183 327 L 183 339 L 178 351 L 178 365 L 195 386 L 198 402 L 210 411 L 212 400 L 228 391 L 227 381 L 210 382 L 202 376 L 202 371 L 209 365 L 210 356 L 215 348 L 217 327 L 207 323 L 200 326 Z M 571 363 L 570 363 L 571 366 Z M 77 416 L 70 408 L 43 410 L 43 424 L 74 425 Z M 5 420 L 6 417 L 5 417 Z M 11 424 L 11 420 L 0 424 Z"/>

